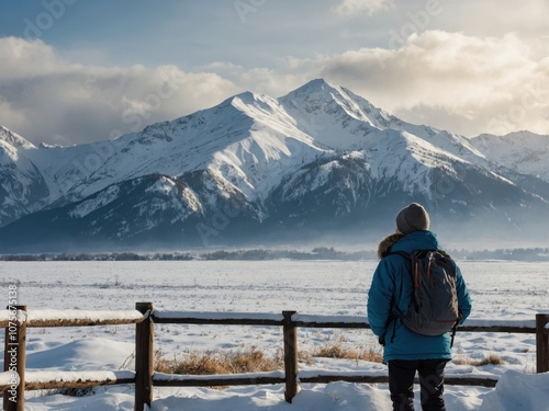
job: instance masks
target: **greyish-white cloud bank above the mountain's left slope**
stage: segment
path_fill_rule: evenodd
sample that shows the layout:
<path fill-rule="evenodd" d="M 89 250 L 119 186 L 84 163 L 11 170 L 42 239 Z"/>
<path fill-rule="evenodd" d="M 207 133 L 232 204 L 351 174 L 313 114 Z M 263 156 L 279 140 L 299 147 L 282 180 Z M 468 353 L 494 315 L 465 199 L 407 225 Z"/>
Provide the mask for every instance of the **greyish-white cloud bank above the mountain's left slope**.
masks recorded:
<path fill-rule="evenodd" d="M 0 124 L 33 142 L 79 144 L 137 132 L 217 104 L 238 90 L 175 66 L 74 65 L 42 41 L 0 38 Z"/>

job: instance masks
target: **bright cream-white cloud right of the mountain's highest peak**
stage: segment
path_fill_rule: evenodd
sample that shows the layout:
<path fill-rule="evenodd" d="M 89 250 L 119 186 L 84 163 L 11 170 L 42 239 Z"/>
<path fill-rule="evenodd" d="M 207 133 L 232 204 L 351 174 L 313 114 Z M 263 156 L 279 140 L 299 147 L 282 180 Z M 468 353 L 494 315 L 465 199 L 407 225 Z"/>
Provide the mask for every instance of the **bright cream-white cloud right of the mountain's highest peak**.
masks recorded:
<path fill-rule="evenodd" d="M 549 134 L 549 59 L 517 35 L 430 31 L 396 50 L 363 48 L 317 61 L 323 76 L 404 119 L 464 135 Z"/>

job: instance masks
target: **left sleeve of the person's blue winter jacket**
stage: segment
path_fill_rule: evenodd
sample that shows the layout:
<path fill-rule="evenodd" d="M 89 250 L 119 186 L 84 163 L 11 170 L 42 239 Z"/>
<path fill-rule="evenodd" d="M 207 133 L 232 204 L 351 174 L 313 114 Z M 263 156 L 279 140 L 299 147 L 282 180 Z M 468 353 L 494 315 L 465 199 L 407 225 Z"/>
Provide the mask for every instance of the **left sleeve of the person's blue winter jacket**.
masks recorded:
<path fill-rule="evenodd" d="M 380 261 L 368 292 L 368 322 L 378 336 L 385 334 L 394 294 L 393 270 L 389 258 Z"/>

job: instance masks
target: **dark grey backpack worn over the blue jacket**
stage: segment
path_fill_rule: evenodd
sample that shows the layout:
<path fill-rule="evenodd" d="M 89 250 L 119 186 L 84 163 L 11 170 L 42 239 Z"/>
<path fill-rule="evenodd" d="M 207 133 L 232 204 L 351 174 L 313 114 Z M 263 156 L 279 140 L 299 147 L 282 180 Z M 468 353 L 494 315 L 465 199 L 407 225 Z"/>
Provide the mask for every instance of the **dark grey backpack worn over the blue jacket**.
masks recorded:
<path fill-rule="evenodd" d="M 461 315 L 456 289 L 456 263 L 441 250 L 418 250 L 412 253 L 390 252 L 407 259 L 414 286 L 407 312 L 401 316 L 404 326 L 424 335 L 441 335 L 451 331 L 451 343 Z"/>

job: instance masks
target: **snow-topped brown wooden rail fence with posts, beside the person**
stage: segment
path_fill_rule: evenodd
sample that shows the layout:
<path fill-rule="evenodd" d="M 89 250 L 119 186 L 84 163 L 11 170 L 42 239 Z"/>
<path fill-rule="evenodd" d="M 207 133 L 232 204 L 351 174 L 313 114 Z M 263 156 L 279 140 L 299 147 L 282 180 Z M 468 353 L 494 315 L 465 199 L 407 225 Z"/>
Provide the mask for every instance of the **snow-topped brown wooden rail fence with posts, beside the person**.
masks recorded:
<path fill-rule="evenodd" d="M 154 370 L 154 324 L 219 324 L 272 326 L 283 329 L 284 370 L 272 373 L 190 376 L 160 374 Z M 40 372 L 25 374 L 26 328 L 90 327 L 107 324 L 136 324 L 135 372 Z M 137 302 L 135 310 L 27 311 L 26 306 L 9 307 L 0 312 L 0 327 L 5 328 L 4 373 L 0 374 L 4 410 L 23 410 L 25 390 L 83 388 L 103 385 L 135 384 L 135 410 L 150 407 L 153 387 L 237 386 L 284 384 L 288 402 L 298 392 L 299 383 L 386 383 L 384 373 L 299 372 L 298 328 L 368 329 L 362 317 L 306 316 L 295 311 L 271 313 L 182 312 L 155 310 L 152 302 Z M 538 313 L 534 321 L 468 320 L 458 331 L 536 333 L 537 372 L 549 372 L 549 313 Z M 493 377 L 447 375 L 449 385 L 478 385 L 493 387 Z"/>

